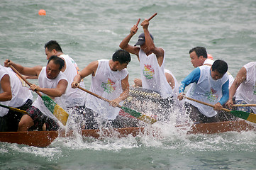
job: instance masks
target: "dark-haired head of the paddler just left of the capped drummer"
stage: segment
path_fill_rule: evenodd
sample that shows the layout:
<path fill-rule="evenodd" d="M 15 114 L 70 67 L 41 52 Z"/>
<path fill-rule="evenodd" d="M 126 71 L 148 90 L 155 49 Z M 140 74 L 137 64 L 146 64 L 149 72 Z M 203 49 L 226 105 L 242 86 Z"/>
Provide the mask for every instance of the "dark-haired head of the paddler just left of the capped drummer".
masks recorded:
<path fill-rule="evenodd" d="M 115 53 L 113 53 L 112 56 L 113 62 L 116 62 L 118 65 L 118 70 L 121 71 L 122 69 L 125 69 L 127 65 L 130 62 L 130 53 L 127 52 L 126 50 L 116 50 Z"/>

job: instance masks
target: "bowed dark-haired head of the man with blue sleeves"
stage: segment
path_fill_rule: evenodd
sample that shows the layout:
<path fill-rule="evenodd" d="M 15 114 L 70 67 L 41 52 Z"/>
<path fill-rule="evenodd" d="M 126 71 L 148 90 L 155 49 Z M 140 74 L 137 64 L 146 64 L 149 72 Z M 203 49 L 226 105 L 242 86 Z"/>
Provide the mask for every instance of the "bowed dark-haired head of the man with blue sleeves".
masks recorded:
<path fill-rule="evenodd" d="M 228 71 L 228 64 L 223 60 L 216 60 L 211 66 L 211 77 L 215 80 L 221 79 Z"/>

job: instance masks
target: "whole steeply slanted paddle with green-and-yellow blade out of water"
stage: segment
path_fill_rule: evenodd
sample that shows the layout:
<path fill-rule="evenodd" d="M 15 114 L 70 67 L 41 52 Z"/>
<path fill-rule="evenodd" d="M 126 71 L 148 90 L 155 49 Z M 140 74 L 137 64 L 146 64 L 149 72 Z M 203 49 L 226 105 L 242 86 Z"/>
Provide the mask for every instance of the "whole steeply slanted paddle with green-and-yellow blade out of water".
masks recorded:
<path fill-rule="evenodd" d="M 10 65 L 10 67 L 11 69 L 13 69 L 13 72 L 16 72 L 16 74 L 18 74 L 18 76 L 21 77 L 21 79 L 23 79 L 26 84 L 28 84 L 28 86 L 31 85 L 30 82 L 28 82 L 25 77 L 23 77 L 23 75 L 21 75 L 12 65 Z M 63 108 L 55 103 L 55 101 L 52 101 L 52 98 L 50 98 L 49 96 L 42 96 L 39 91 L 35 91 L 35 93 L 37 93 L 43 99 L 43 103 L 45 103 L 46 108 L 48 108 L 49 111 L 53 115 L 55 115 L 55 117 L 60 120 L 63 125 L 66 125 L 69 114 L 67 114 L 67 112 Z"/>

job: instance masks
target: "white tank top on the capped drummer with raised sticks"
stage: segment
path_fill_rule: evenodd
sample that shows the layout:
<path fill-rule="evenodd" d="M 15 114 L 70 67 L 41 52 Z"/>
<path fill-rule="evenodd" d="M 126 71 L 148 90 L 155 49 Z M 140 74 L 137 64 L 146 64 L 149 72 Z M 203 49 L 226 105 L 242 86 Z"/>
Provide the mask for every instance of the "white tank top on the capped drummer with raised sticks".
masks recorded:
<path fill-rule="evenodd" d="M 161 67 L 154 53 L 147 56 L 145 52 L 140 49 L 139 58 L 143 89 L 157 91 L 161 94 L 162 98 L 173 96 L 173 91 L 169 88 L 165 77 L 165 56 Z"/>

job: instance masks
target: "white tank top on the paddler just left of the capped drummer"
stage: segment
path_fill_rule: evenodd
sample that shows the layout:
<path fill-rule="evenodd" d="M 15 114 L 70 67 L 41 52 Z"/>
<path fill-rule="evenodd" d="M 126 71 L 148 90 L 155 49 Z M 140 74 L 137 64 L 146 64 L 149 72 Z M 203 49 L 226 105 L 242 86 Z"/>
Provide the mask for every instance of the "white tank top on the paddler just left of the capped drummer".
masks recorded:
<path fill-rule="evenodd" d="M 108 64 L 109 60 L 99 60 L 95 76 L 91 76 L 90 91 L 108 100 L 118 98 L 123 93 L 121 81 L 128 75 L 127 69 L 112 71 Z M 120 105 L 123 102 L 119 103 Z M 113 108 L 109 103 L 99 98 L 87 95 L 86 106 L 99 113 L 102 118 L 113 120 L 118 115 L 120 108 Z"/>

